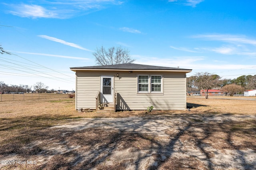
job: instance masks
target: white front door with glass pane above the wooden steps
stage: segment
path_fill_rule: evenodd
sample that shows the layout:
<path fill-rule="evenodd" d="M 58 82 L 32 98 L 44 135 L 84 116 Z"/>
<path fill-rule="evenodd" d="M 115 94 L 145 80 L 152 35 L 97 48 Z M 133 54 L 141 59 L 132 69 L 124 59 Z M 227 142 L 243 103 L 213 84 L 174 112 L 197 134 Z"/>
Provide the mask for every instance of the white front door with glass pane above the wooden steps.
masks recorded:
<path fill-rule="evenodd" d="M 113 76 L 100 76 L 100 102 L 113 103 Z"/>

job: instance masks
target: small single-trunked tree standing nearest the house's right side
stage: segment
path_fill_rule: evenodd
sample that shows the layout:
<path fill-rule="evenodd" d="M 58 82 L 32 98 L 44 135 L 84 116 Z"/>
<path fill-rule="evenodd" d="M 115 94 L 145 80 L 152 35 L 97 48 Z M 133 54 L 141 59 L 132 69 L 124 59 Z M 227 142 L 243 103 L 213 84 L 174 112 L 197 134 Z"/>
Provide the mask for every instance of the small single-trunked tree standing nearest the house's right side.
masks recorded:
<path fill-rule="evenodd" d="M 198 72 L 195 75 L 194 85 L 204 90 L 205 98 L 208 99 L 208 90 L 218 87 L 220 76 L 208 72 Z"/>

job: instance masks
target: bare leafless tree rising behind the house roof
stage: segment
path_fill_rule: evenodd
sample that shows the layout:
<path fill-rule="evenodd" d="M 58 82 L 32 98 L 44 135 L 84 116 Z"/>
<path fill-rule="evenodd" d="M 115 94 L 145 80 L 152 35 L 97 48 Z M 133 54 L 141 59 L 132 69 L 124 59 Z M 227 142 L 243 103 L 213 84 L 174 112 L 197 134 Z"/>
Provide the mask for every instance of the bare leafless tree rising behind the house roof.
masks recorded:
<path fill-rule="evenodd" d="M 98 65 L 113 65 L 113 64 L 125 64 L 133 63 L 135 59 L 130 57 L 130 52 L 122 47 L 110 47 L 106 50 L 103 46 L 96 48 L 96 51 L 92 53 L 95 57 L 96 64 Z"/>

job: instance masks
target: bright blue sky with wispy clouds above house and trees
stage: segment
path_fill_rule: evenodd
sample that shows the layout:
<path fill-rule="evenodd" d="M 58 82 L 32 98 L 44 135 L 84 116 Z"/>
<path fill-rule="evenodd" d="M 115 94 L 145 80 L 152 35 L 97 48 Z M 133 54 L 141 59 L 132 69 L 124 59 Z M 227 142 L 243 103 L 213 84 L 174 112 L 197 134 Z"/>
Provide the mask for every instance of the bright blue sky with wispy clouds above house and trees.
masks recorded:
<path fill-rule="evenodd" d="M 2 0 L 0 81 L 75 89 L 70 67 L 96 47 L 122 46 L 134 63 L 222 78 L 256 74 L 256 1 Z"/>

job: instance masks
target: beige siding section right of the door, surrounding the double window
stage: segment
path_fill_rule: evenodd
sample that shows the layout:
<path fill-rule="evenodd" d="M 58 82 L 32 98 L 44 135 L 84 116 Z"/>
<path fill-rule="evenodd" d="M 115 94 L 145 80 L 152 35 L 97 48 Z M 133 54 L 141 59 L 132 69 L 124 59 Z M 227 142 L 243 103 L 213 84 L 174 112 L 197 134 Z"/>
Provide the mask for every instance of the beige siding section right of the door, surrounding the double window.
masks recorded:
<path fill-rule="evenodd" d="M 119 73 L 115 78 L 118 93 L 116 109 L 143 110 L 148 106 L 154 109 L 185 109 L 186 78 L 184 73 L 147 72 L 148 75 L 162 75 L 163 93 L 137 93 L 137 75 L 143 72 Z"/>

